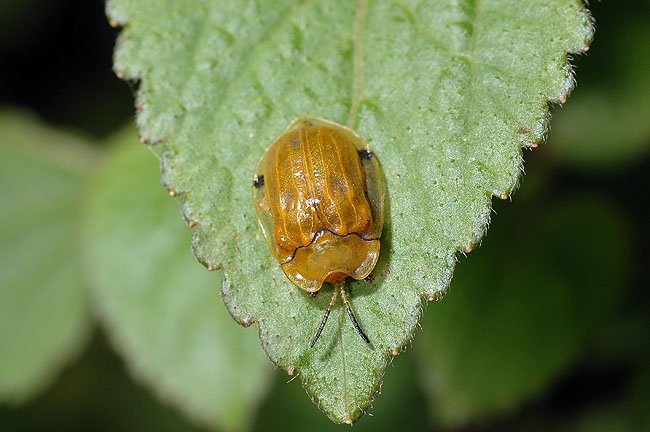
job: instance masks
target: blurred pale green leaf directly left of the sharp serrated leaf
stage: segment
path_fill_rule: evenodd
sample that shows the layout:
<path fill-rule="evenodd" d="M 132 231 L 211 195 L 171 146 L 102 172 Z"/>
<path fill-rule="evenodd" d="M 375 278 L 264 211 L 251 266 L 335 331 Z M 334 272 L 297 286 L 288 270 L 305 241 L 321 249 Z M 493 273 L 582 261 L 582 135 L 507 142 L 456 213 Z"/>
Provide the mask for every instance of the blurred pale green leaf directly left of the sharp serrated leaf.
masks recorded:
<path fill-rule="evenodd" d="M 270 368 L 219 300 L 219 276 L 192 257 L 190 231 L 157 171 L 125 132 L 89 189 L 86 258 L 102 322 L 163 400 L 214 429 L 244 430 Z"/>

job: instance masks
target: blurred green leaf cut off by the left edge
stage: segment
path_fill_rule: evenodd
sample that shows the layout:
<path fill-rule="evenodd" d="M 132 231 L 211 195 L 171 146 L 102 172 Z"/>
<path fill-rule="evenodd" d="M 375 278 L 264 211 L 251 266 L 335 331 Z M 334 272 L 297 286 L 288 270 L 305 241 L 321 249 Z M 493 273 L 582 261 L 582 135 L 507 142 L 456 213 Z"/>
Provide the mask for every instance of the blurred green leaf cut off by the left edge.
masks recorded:
<path fill-rule="evenodd" d="M 0 402 L 49 385 L 90 327 L 78 239 L 85 142 L 0 113 Z"/>

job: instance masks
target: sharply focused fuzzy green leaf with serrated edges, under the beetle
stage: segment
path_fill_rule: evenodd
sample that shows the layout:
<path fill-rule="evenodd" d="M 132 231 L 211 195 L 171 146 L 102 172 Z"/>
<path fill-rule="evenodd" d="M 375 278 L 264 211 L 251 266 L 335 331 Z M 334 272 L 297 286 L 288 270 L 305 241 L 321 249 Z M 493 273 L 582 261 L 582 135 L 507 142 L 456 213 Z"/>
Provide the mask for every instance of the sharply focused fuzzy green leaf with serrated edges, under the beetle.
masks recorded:
<path fill-rule="evenodd" d="M 456 252 L 479 241 L 491 196 L 515 188 L 522 146 L 573 85 L 566 52 L 592 36 L 577 0 L 113 0 L 108 13 L 126 26 L 115 69 L 140 80 L 140 132 L 163 141 L 197 257 L 225 270 L 230 312 L 259 324 L 271 360 L 346 423 L 413 337 L 422 299 L 445 292 Z M 257 160 L 306 114 L 353 127 L 383 166 L 382 256 L 374 282 L 348 286 L 372 347 L 339 305 L 309 349 L 329 288 L 292 286 L 255 220 Z"/>

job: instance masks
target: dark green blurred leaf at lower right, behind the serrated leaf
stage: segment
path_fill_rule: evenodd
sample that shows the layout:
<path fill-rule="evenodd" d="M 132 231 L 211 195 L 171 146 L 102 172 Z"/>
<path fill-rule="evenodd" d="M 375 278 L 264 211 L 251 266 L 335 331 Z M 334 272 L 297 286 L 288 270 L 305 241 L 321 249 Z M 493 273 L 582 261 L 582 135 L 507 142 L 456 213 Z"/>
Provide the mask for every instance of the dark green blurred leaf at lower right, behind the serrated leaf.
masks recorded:
<path fill-rule="evenodd" d="M 423 385 L 438 420 L 513 409 L 578 358 L 625 287 L 624 227 L 611 205 L 580 197 L 495 223 L 423 320 Z"/>

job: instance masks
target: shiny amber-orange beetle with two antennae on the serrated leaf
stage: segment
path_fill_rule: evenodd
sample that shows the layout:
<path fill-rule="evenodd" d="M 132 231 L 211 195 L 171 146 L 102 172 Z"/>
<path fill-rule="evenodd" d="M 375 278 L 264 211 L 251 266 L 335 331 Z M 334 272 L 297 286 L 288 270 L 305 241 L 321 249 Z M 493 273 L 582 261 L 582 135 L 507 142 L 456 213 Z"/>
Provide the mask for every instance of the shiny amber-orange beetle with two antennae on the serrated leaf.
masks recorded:
<path fill-rule="evenodd" d="M 345 293 L 379 259 L 384 188 L 376 155 L 353 130 L 319 117 L 293 120 L 268 147 L 253 178 L 257 219 L 271 254 L 298 288 L 314 296 L 333 285 L 320 337 L 340 292 L 355 330 L 368 344 Z"/>

